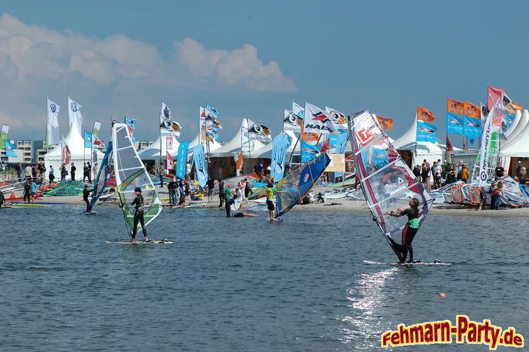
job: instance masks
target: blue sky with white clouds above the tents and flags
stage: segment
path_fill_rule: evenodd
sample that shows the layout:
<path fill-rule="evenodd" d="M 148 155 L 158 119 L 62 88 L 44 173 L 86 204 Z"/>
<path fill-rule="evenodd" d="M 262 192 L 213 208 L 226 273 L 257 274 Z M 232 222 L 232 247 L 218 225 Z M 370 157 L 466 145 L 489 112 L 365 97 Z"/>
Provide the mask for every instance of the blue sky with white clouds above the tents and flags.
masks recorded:
<path fill-rule="evenodd" d="M 92 1 L 0 2 L 0 123 L 10 138 L 41 139 L 45 96 L 83 105 L 84 129 L 138 119 L 154 139 L 160 101 L 196 134 L 211 103 L 230 139 L 242 118 L 281 129 L 291 101 L 394 118 L 416 106 L 436 116 L 446 98 L 479 103 L 486 86 L 526 104 L 526 2 Z M 525 106 L 524 106 L 525 107 Z M 457 140 L 454 137 L 455 140 Z M 455 143 L 457 144 L 457 143 Z"/>

